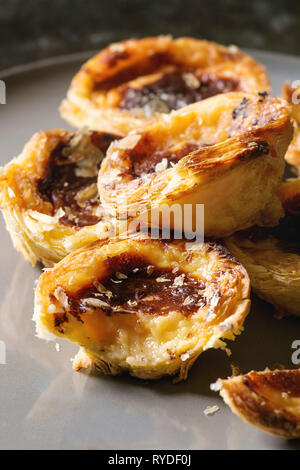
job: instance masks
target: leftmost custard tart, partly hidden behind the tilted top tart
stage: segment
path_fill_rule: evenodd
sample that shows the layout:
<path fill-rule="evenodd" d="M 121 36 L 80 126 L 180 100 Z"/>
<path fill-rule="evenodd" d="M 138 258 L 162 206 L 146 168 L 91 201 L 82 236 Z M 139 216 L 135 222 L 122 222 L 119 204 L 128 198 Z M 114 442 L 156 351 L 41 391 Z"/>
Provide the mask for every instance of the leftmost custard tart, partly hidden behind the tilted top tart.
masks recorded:
<path fill-rule="evenodd" d="M 35 134 L 0 174 L 0 207 L 14 246 L 51 266 L 107 237 L 97 190 L 111 134 L 54 129 Z"/>

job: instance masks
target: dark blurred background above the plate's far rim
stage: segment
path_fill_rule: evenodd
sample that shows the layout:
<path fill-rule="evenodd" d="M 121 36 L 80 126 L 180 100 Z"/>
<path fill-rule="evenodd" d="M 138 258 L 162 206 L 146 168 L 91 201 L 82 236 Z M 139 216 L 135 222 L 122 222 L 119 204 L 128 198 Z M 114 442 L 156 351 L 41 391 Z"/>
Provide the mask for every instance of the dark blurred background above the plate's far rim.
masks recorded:
<path fill-rule="evenodd" d="M 0 69 L 159 33 L 300 55 L 300 0 L 0 0 Z"/>

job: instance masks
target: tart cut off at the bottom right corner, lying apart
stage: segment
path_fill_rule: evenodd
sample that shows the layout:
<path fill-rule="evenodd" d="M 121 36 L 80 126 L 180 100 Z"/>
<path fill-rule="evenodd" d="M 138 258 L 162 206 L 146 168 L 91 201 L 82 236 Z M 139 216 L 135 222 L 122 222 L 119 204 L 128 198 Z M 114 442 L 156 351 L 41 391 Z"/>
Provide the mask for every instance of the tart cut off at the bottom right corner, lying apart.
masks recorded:
<path fill-rule="evenodd" d="M 300 438 L 300 370 L 251 371 L 217 388 L 231 411 L 249 424 L 285 439 Z"/>

